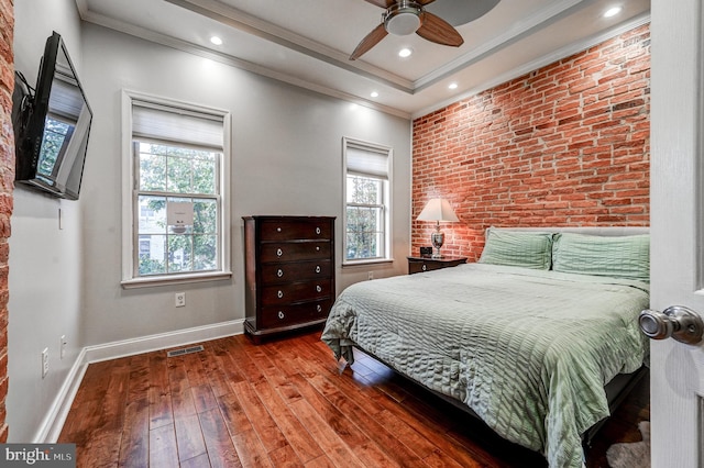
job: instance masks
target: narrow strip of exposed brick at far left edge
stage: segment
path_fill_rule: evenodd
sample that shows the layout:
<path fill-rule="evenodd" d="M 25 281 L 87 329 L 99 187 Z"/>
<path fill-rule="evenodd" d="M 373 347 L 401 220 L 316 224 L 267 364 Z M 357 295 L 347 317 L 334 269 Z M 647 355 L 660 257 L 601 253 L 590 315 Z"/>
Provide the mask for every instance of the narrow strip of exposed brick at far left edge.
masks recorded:
<path fill-rule="evenodd" d="M 4 404 L 8 395 L 8 237 L 14 187 L 14 137 L 11 119 L 14 88 L 13 35 L 13 1 L 0 0 L 0 443 L 8 441 Z"/>

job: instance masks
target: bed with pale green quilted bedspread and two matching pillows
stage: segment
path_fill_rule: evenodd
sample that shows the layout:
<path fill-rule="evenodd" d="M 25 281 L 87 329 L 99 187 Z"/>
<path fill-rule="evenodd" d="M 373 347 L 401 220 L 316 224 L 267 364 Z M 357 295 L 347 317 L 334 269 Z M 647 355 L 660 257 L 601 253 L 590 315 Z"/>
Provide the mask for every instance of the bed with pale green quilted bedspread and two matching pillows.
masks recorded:
<path fill-rule="evenodd" d="M 609 414 L 605 386 L 647 359 L 648 280 L 642 229 L 488 229 L 475 264 L 350 286 L 321 338 L 461 402 L 551 467 L 579 467 Z"/>

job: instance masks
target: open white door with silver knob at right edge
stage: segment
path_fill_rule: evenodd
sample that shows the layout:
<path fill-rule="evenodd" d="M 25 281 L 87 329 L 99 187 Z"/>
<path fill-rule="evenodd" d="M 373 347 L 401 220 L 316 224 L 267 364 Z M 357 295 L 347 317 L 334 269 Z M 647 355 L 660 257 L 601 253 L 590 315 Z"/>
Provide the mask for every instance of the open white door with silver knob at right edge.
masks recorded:
<path fill-rule="evenodd" d="M 650 307 L 704 313 L 702 0 L 651 0 Z M 704 467 L 704 345 L 650 342 L 653 468 Z"/>

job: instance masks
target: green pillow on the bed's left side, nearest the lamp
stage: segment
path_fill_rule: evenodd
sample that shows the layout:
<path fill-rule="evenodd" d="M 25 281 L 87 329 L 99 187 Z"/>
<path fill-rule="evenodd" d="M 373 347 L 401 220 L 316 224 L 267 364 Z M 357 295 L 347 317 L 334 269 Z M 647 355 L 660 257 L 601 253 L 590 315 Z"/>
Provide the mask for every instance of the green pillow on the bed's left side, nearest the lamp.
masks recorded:
<path fill-rule="evenodd" d="M 479 263 L 548 270 L 551 256 L 552 233 L 490 227 Z"/>

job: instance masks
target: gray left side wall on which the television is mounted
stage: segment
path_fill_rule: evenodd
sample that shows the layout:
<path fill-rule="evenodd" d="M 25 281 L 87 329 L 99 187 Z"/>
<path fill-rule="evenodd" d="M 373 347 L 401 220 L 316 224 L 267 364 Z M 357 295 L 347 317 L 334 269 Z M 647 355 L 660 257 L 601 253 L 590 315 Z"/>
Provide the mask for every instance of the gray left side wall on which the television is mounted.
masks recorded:
<path fill-rule="evenodd" d="M 46 37 L 56 31 L 79 74 L 80 19 L 74 0 L 14 2 L 15 68 L 34 86 Z M 81 201 L 58 200 L 18 186 L 10 237 L 8 375 L 9 442 L 33 442 L 82 348 Z M 62 210 L 63 229 L 58 227 Z M 59 337 L 66 355 L 59 358 Z M 41 353 L 50 371 L 42 379 Z"/>

